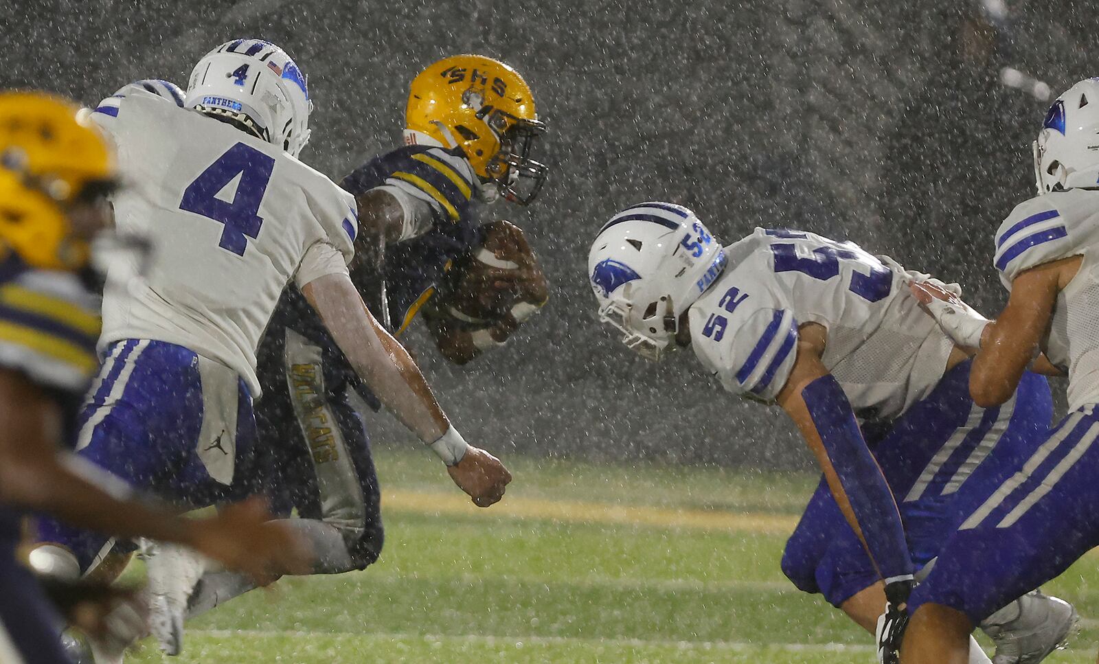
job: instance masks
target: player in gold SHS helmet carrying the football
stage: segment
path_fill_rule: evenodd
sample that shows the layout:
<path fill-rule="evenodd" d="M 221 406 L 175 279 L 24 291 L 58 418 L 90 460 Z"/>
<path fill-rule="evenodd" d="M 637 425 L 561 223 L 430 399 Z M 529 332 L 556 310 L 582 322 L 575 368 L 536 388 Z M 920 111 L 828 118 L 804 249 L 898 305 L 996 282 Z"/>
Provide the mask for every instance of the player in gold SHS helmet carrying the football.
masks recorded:
<path fill-rule="evenodd" d="M 545 125 L 514 69 L 456 55 L 412 80 L 404 128 L 404 145 L 342 182 L 358 203 L 352 279 L 390 332 L 402 333 L 426 312 L 440 352 L 465 363 L 503 344 L 548 297 L 522 232 L 504 221 L 484 223 L 486 203 L 526 204 L 537 195 L 547 168 L 531 151 Z M 384 539 L 367 431 L 346 395 L 377 401 L 335 348 L 290 288 L 257 353 L 262 487 L 287 513 L 297 509 L 313 545 L 323 549 L 314 569 L 326 574 L 374 563 Z M 480 507 L 500 499 L 511 479 L 499 461 L 475 449 L 448 473 L 459 486 L 479 477 L 498 487 L 475 500 Z M 189 598 L 189 616 L 246 589 L 240 579 L 209 574 Z"/>

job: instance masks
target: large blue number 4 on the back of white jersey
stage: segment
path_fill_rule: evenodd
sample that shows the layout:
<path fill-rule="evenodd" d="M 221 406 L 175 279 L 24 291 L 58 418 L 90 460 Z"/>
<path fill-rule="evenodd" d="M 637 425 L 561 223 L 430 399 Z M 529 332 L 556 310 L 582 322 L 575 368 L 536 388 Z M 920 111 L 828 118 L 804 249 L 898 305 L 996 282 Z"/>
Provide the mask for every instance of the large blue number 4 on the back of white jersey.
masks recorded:
<path fill-rule="evenodd" d="M 259 217 L 259 203 L 274 168 L 275 157 L 237 143 L 187 186 L 179 209 L 225 224 L 218 246 L 243 256 L 248 246 L 246 237 L 255 240 L 264 223 Z M 237 177 L 240 181 L 233 202 L 218 198 L 217 195 Z"/>

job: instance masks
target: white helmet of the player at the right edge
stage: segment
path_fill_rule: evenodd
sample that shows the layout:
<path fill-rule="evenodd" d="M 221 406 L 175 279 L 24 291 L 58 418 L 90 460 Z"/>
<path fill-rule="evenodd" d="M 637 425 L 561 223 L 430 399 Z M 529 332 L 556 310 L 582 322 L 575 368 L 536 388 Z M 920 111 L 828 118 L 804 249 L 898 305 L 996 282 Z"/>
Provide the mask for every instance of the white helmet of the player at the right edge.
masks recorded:
<path fill-rule="evenodd" d="M 1037 192 L 1096 186 L 1099 170 L 1099 79 L 1068 88 L 1050 107 L 1033 143 Z M 1074 177 L 1074 174 L 1078 174 Z"/>

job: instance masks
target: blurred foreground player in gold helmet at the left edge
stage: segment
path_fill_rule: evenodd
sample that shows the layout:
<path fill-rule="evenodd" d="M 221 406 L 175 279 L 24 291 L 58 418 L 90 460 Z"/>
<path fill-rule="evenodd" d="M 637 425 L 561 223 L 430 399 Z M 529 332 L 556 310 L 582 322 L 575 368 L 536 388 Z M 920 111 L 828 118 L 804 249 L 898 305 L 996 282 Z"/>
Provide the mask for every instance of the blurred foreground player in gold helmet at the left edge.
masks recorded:
<path fill-rule="evenodd" d="M 264 578 L 303 553 L 259 502 L 207 520 L 125 497 L 60 452 L 99 366 L 97 300 L 77 272 L 110 220 L 113 158 L 77 108 L 0 92 L 0 661 L 67 662 L 59 623 L 16 557 L 23 514 L 193 546 Z M 48 554 L 47 554 L 48 557 Z"/>

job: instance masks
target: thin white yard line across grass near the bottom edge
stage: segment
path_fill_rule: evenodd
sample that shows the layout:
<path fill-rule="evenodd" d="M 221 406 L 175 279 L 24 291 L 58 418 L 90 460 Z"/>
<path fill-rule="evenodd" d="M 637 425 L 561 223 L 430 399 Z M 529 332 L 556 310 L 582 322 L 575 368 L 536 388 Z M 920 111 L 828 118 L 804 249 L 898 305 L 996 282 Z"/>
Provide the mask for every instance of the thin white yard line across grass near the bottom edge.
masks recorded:
<path fill-rule="evenodd" d="M 463 641 L 467 643 L 582 643 L 591 645 L 619 645 L 644 648 L 646 645 L 674 646 L 696 650 L 729 650 L 755 652 L 759 650 L 780 650 L 788 652 L 874 652 L 873 644 L 851 644 L 851 643 L 750 643 L 747 641 L 676 641 L 671 639 L 590 639 L 577 637 L 536 637 L 506 635 L 491 637 L 482 634 L 417 634 L 408 632 L 364 632 L 356 634 L 352 632 L 306 632 L 297 630 L 187 630 L 188 634 L 204 634 L 218 639 L 230 637 L 258 637 L 260 639 L 275 637 L 333 637 L 336 639 L 358 639 L 362 637 L 381 637 L 385 639 L 404 639 L 420 641 Z M 867 637 L 868 639 L 869 637 Z"/>

